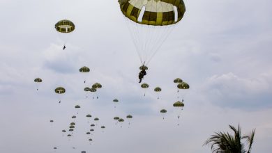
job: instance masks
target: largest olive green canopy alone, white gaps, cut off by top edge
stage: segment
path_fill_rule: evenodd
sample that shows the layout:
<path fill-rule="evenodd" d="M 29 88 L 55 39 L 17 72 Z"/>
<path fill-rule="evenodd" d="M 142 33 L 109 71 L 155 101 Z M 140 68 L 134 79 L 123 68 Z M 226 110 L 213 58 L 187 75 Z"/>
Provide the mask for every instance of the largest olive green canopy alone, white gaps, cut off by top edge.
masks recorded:
<path fill-rule="evenodd" d="M 176 24 L 186 11 L 182 0 L 119 0 L 119 3 L 123 15 L 128 19 L 153 26 Z"/>

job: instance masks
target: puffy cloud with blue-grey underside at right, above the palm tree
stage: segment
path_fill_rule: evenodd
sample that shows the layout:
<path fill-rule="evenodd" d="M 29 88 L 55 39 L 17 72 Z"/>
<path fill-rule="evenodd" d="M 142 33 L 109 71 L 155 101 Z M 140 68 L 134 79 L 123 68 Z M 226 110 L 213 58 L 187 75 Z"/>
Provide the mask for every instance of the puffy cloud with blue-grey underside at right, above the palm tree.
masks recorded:
<path fill-rule="evenodd" d="M 255 79 L 245 79 L 232 72 L 213 75 L 202 85 L 202 94 L 215 105 L 252 109 L 271 107 L 272 74 L 260 74 Z"/>

